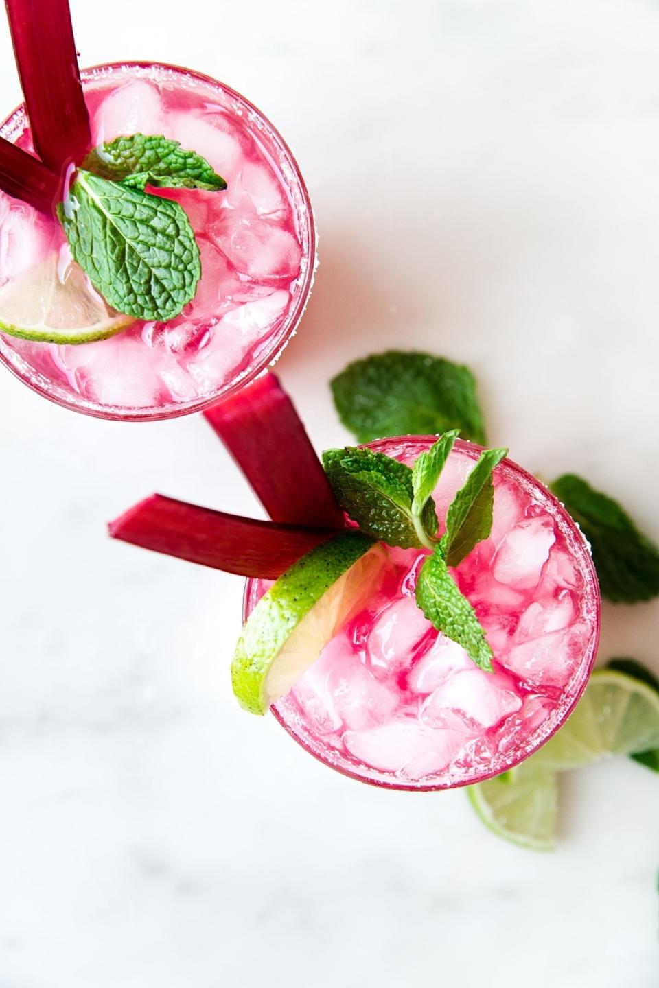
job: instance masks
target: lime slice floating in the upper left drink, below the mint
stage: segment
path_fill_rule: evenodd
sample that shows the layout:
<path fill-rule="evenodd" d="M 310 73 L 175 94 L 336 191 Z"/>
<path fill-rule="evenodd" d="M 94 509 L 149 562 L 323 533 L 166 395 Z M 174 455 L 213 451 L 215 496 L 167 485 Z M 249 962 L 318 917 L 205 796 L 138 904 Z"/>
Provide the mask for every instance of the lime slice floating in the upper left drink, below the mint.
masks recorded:
<path fill-rule="evenodd" d="M 110 308 L 77 264 L 60 276 L 57 255 L 0 288 L 0 332 L 39 343 L 92 343 L 134 322 Z"/>

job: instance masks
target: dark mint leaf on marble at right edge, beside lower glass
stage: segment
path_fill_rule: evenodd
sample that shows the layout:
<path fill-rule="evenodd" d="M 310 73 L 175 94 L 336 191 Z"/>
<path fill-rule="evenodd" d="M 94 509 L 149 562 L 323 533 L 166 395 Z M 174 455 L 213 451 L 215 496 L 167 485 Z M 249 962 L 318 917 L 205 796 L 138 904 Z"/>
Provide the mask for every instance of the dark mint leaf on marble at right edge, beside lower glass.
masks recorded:
<path fill-rule="evenodd" d="M 602 596 L 633 604 L 659 594 L 659 549 L 617 501 L 566 473 L 550 485 L 591 543 Z"/>

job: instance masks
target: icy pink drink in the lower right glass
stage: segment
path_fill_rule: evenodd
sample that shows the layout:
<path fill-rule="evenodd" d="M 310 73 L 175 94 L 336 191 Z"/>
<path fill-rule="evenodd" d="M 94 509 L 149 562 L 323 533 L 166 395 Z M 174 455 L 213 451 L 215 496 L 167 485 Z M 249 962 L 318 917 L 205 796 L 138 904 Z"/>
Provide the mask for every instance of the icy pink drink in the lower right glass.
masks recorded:
<path fill-rule="evenodd" d="M 433 437 L 369 444 L 411 464 Z M 435 490 L 440 519 L 480 452 L 456 442 Z M 440 789 L 480 782 L 531 755 L 590 674 L 600 597 L 588 545 L 560 504 L 510 460 L 494 472 L 494 521 L 454 571 L 494 651 L 481 672 L 414 599 L 425 549 L 387 548 L 366 610 L 325 647 L 274 711 L 304 748 L 363 782 Z M 271 584 L 247 585 L 249 613 Z"/>

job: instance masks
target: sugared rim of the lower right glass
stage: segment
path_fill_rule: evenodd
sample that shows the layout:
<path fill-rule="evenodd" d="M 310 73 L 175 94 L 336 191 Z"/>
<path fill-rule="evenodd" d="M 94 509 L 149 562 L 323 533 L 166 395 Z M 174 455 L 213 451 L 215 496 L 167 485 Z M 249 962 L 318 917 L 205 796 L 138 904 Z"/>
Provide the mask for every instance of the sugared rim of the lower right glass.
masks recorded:
<path fill-rule="evenodd" d="M 390 439 L 374 440 L 371 443 L 365 443 L 363 445 L 377 453 L 387 453 L 388 449 L 391 447 L 401 447 L 412 444 L 428 449 L 436 441 L 437 436 L 397 436 Z M 455 441 L 454 449 L 456 452 L 465 453 L 470 456 L 470 458 L 476 459 L 482 452 L 483 447 L 477 446 L 475 443 L 469 443 L 465 440 L 458 439 Z M 420 452 L 423 452 L 423 450 Z M 568 687 L 564 691 L 562 701 L 556 705 L 552 711 L 552 714 L 535 729 L 530 739 L 528 739 L 527 743 L 524 745 L 524 750 L 522 752 L 513 751 L 508 753 L 496 763 L 496 767 L 491 771 L 479 773 L 473 779 L 459 779 L 455 781 L 445 780 L 428 783 L 420 782 L 418 784 L 414 784 L 410 782 L 398 782 L 393 778 L 369 778 L 366 775 L 362 775 L 358 771 L 354 771 L 346 765 L 336 764 L 330 759 L 325 758 L 319 751 L 314 751 L 311 745 L 295 732 L 293 726 L 288 723 L 277 707 L 272 706 L 271 709 L 276 719 L 280 722 L 282 727 L 284 727 L 290 737 L 296 741 L 300 747 L 307 751 L 309 755 L 312 755 L 315 759 L 317 759 L 317 761 L 322 762 L 322 764 L 326 765 L 328 768 L 334 769 L 335 772 L 339 772 L 341 775 L 348 776 L 350 779 L 355 779 L 358 782 L 366 782 L 368 785 L 375 785 L 379 788 L 397 789 L 407 792 L 437 792 L 443 789 L 459 788 L 463 785 L 473 785 L 476 782 L 486 782 L 488 779 L 492 779 L 494 776 L 498 776 L 502 772 L 513 769 L 516 765 L 519 765 L 521 762 L 524 762 L 527 758 L 533 755 L 538 748 L 545 744 L 549 738 L 556 733 L 556 731 L 562 726 L 567 717 L 570 715 L 577 702 L 581 699 L 581 695 L 583 694 L 593 671 L 600 641 L 600 588 L 597 573 L 595 572 L 595 566 L 593 564 L 590 545 L 581 532 L 579 526 L 576 524 L 574 519 L 568 515 L 560 501 L 558 501 L 558 499 L 540 480 L 537 479 L 537 477 L 529 473 L 524 469 L 524 467 L 520 466 L 509 457 L 506 457 L 501 461 L 497 467 L 497 472 L 500 470 L 510 471 L 510 473 L 514 474 L 517 479 L 522 480 L 523 486 L 526 489 L 533 489 L 536 492 L 539 492 L 546 502 L 546 505 L 552 509 L 553 516 L 560 525 L 562 534 L 567 537 L 570 551 L 578 563 L 579 571 L 584 578 L 583 593 L 587 597 L 588 619 L 592 624 L 592 632 L 588 642 L 588 647 L 584 654 L 584 661 L 580 663 L 578 669 L 573 674 Z M 247 620 L 249 615 L 251 590 L 256 583 L 257 581 L 253 579 L 246 581 L 245 592 L 243 595 L 243 621 Z M 565 697 L 567 697 L 567 700 L 565 700 Z"/>

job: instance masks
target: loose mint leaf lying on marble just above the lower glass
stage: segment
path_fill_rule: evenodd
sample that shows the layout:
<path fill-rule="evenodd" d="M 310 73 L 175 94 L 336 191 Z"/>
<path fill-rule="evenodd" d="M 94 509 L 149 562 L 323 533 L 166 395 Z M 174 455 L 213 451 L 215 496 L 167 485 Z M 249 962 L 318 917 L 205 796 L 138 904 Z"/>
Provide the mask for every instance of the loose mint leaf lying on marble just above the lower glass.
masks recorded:
<path fill-rule="evenodd" d="M 459 429 L 485 444 L 468 368 L 430 354 L 389 350 L 350 364 L 331 381 L 339 418 L 358 442 Z"/>

